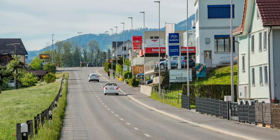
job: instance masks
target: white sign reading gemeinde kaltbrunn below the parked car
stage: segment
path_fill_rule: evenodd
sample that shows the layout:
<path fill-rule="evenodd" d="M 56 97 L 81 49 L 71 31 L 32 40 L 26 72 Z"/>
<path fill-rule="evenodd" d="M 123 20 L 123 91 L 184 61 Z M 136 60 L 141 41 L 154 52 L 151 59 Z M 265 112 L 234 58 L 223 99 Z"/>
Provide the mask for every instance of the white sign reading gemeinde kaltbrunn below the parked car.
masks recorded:
<path fill-rule="evenodd" d="M 192 81 L 191 69 L 189 69 L 189 72 L 187 72 L 187 69 L 169 69 L 169 82 L 187 82 L 188 75 L 189 81 Z"/>

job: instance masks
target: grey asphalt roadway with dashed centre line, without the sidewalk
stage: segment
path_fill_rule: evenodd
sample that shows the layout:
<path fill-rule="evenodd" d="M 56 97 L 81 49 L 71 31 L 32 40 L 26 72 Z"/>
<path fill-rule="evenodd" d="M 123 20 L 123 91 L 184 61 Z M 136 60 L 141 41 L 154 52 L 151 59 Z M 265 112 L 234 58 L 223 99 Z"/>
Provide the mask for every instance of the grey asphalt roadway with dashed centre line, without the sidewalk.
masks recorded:
<path fill-rule="evenodd" d="M 67 71 L 68 105 L 61 139 L 240 139 L 149 110 L 121 92 L 103 95 L 105 79 L 88 82 L 96 67 Z"/>

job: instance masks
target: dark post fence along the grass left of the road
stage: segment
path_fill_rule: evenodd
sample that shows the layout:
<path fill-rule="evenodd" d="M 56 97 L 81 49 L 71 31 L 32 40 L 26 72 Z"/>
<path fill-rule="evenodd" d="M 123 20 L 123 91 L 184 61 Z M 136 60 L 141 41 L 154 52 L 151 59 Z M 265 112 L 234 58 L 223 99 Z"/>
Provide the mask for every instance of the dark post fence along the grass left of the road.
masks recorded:
<path fill-rule="evenodd" d="M 16 140 L 26 139 L 23 137 L 32 137 L 35 134 L 38 133 L 38 130 L 40 127 L 43 127 L 45 122 L 47 120 L 52 120 L 52 114 L 49 114 L 49 111 L 52 111 L 55 107 L 57 107 L 57 102 L 59 100 L 59 97 L 62 97 L 62 89 L 63 89 L 63 83 L 64 83 L 65 73 L 63 74 L 60 88 L 58 91 L 57 96 L 54 98 L 54 101 L 49 105 L 47 109 L 42 111 L 40 114 L 37 114 L 37 116 L 34 117 L 34 120 L 27 120 L 27 134 L 24 134 L 24 132 L 21 132 L 21 125 L 20 123 L 16 124 Z"/>

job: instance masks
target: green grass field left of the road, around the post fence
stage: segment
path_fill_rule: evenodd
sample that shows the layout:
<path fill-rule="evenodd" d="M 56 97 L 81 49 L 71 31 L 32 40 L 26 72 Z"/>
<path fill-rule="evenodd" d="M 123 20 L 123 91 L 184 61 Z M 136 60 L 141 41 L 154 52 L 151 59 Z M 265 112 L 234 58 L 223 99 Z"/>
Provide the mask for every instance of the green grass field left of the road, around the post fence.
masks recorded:
<path fill-rule="evenodd" d="M 60 78 L 58 78 L 55 83 L 46 84 L 45 82 L 42 82 L 41 84 L 38 83 L 36 86 L 29 88 L 2 91 L 2 94 L 0 94 L 0 139 L 16 139 L 16 136 L 14 136 L 16 133 L 16 123 L 26 123 L 26 120 L 34 119 L 34 116 L 49 107 L 58 93 L 63 73 L 57 73 L 56 76 Z M 64 86 L 67 85 L 64 84 Z M 63 90 L 64 94 L 66 94 L 67 88 L 64 88 Z M 61 102 L 63 102 L 63 100 Z M 64 104 L 66 104 L 65 101 Z M 61 106 L 63 107 L 63 105 Z M 64 108 L 59 110 L 63 110 L 64 113 Z M 62 112 L 58 111 L 58 114 L 60 113 Z M 56 125 L 56 123 L 54 124 Z M 58 125 L 62 127 L 60 124 L 57 124 L 56 126 L 53 125 L 52 127 L 60 130 Z M 45 127 L 40 129 L 39 133 L 44 130 L 44 128 Z M 52 138 L 41 137 L 38 139 Z"/>

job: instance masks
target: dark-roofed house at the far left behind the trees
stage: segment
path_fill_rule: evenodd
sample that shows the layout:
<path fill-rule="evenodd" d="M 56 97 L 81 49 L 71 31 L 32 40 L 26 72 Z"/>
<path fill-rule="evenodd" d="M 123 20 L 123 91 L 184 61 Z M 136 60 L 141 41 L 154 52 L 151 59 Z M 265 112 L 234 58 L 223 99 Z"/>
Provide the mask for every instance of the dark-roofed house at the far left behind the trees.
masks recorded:
<path fill-rule="evenodd" d="M 19 43 L 18 45 L 9 45 Z M 16 52 L 15 52 L 16 50 Z M 12 54 L 18 54 L 21 56 L 21 62 L 25 63 L 25 55 L 27 51 L 22 43 L 21 39 L 13 38 L 0 38 L 0 64 L 8 64 L 12 60 Z"/>

